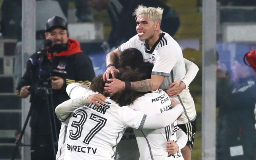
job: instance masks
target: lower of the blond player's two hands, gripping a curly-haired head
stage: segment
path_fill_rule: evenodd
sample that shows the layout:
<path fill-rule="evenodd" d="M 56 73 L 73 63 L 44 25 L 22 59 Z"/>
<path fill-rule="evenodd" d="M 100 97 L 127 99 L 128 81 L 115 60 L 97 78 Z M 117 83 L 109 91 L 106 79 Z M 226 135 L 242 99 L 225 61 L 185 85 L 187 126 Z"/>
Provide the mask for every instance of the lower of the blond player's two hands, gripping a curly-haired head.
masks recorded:
<path fill-rule="evenodd" d="M 113 95 L 118 91 L 122 91 L 125 88 L 125 83 L 119 79 L 112 78 L 112 79 L 108 79 L 108 81 L 110 81 L 111 83 L 106 83 L 104 90 L 110 95 Z"/>

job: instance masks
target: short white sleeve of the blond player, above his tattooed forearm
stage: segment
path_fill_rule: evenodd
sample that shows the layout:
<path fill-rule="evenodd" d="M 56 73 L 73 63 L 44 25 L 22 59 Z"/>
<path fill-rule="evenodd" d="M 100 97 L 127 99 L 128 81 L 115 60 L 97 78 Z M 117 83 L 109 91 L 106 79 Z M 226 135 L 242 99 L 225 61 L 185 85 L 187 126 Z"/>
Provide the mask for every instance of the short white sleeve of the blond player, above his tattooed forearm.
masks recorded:
<path fill-rule="evenodd" d="M 159 48 L 157 59 L 151 74 L 169 76 L 172 68 L 177 64 L 178 61 L 177 55 L 175 55 L 175 53 L 176 49 L 171 45 Z"/>

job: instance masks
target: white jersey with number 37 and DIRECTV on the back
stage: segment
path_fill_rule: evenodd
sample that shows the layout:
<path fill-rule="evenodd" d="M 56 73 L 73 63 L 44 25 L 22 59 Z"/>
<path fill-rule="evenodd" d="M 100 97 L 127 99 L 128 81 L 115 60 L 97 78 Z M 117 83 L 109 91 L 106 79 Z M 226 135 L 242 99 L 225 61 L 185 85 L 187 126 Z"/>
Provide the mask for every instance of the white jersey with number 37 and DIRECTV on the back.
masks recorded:
<path fill-rule="evenodd" d="M 109 98 L 100 107 L 91 103 L 77 108 L 68 123 L 65 159 L 112 160 L 125 128 L 140 129 L 145 119 Z"/>

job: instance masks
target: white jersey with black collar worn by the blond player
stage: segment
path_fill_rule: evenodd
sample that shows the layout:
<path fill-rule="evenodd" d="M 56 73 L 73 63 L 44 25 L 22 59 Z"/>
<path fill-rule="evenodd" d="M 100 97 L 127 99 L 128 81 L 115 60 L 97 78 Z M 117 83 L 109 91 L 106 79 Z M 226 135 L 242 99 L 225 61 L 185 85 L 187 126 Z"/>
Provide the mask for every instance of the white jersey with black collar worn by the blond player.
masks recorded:
<path fill-rule="evenodd" d="M 186 84 L 186 89 L 180 94 L 188 94 L 188 96 L 183 96 L 186 97 L 187 100 L 188 98 L 192 98 L 188 90 L 188 85 L 192 82 L 198 70 L 195 69 L 186 75 L 182 50 L 172 36 L 162 31 L 159 39 L 152 48 L 149 49 L 148 44 L 145 41 L 141 41 L 138 35 L 135 35 L 129 41 L 120 45 L 118 47 L 118 52 L 121 54 L 128 48 L 138 49 L 143 54 L 145 62 L 148 61 L 154 64 L 152 75 L 165 76 L 163 83 L 159 87 L 160 89 L 169 89 L 169 85 L 172 82 L 182 80 Z M 189 99 L 189 102 L 182 102 L 183 99 L 179 97 L 180 96 L 178 96 L 177 99 L 179 99 L 184 110 L 184 116 L 180 119 L 179 124 L 194 121 L 196 119 L 196 108 L 195 104 L 192 104 L 193 98 L 192 100 Z"/>

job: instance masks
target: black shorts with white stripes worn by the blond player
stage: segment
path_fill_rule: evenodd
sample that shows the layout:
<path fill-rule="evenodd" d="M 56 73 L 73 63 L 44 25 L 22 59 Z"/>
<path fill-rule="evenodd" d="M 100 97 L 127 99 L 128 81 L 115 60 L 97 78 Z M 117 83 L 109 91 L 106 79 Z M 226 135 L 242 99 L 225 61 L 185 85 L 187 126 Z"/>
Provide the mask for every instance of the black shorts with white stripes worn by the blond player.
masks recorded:
<path fill-rule="evenodd" d="M 192 152 L 194 138 L 195 138 L 195 134 L 196 134 L 196 120 L 193 122 L 185 123 L 185 124 L 178 124 L 178 127 L 180 127 L 180 129 L 182 129 L 182 131 L 187 134 L 188 142 L 186 145 L 189 146 L 189 148 Z"/>

